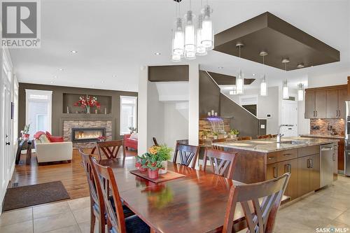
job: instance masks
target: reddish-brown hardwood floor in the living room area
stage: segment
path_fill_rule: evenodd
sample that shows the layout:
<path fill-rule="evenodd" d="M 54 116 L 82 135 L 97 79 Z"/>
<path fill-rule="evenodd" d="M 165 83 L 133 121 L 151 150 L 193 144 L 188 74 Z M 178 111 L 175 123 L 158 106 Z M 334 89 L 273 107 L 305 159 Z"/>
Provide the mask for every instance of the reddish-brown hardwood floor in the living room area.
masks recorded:
<path fill-rule="evenodd" d="M 85 149 L 85 153 L 90 153 L 90 151 L 91 149 Z M 136 154 L 134 151 L 127 150 L 127 156 Z M 29 165 L 25 164 L 25 155 L 21 155 L 20 164 L 15 166 L 8 187 L 35 185 L 50 181 L 62 181 L 71 199 L 89 196 L 89 187 L 78 150 L 73 150 L 71 163 L 57 162 L 41 166 L 38 166 L 36 162 L 35 153 L 32 154 Z"/>

